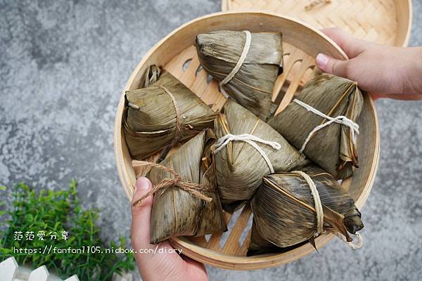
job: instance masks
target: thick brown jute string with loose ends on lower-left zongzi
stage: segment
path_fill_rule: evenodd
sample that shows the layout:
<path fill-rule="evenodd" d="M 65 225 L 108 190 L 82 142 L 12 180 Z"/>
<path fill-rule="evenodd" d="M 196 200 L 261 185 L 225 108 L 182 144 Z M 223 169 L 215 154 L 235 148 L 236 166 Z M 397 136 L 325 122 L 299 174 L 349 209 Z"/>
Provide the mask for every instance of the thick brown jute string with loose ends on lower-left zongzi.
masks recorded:
<path fill-rule="evenodd" d="M 153 195 L 155 192 L 158 192 L 161 190 L 161 192 L 164 192 L 167 188 L 170 187 L 177 187 L 181 188 L 182 190 L 185 190 L 186 192 L 191 193 L 191 195 L 197 197 L 200 200 L 204 200 L 205 202 L 211 202 L 212 198 L 207 197 L 203 194 L 204 191 L 212 191 L 215 190 L 215 187 L 211 187 L 208 185 L 202 185 L 200 183 L 191 183 L 187 181 L 183 181 L 181 176 L 177 174 L 176 171 L 173 169 L 170 169 L 166 166 L 163 166 L 161 164 L 146 162 L 146 161 L 138 161 L 133 160 L 132 166 L 138 167 L 138 166 L 151 166 L 153 168 L 161 169 L 162 171 L 167 171 L 168 173 L 172 174 L 175 178 L 165 178 L 161 180 L 159 183 L 153 186 L 153 188 L 148 191 L 145 195 L 143 195 L 139 200 L 136 200 L 133 203 L 133 206 L 136 206 L 137 204 L 140 204 L 143 200 L 145 200 L 146 197 L 149 195 Z"/>

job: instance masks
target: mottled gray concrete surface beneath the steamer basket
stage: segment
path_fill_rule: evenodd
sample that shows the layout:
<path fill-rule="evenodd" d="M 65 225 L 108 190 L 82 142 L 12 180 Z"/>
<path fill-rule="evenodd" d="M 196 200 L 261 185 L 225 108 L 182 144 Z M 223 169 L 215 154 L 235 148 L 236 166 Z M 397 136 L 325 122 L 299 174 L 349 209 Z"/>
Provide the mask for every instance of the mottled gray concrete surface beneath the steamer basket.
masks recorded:
<path fill-rule="evenodd" d="M 0 182 L 61 188 L 77 178 L 84 206 L 103 210 L 101 236 L 128 235 L 112 143 L 120 91 L 159 39 L 219 9 L 219 0 L 0 0 Z M 422 46 L 421 22 L 415 0 L 411 46 Z M 381 160 L 363 209 L 364 248 L 335 241 L 286 266 L 208 267 L 212 280 L 421 280 L 422 102 L 376 107 Z"/>

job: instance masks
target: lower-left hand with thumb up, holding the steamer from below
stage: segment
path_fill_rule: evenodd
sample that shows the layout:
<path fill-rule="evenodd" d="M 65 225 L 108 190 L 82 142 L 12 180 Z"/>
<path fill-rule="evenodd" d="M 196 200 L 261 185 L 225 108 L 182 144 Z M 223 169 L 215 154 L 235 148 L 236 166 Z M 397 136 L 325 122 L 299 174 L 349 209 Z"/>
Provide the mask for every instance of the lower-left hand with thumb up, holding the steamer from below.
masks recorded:
<path fill-rule="evenodd" d="M 151 188 L 152 184 L 148 178 L 138 178 L 132 203 Z M 132 247 L 137 251 L 135 259 L 142 280 L 208 280 L 207 271 L 202 263 L 180 256 L 176 252 L 169 253 L 168 250 L 173 249 L 169 242 L 150 244 L 152 204 L 153 195 L 146 197 L 136 207 L 132 205 Z M 143 253 L 139 253 L 140 249 Z M 148 253 L 148 249 L 151 249 L 151 253 Z M 164 252 L 161 253 L 160 249 Z"/>

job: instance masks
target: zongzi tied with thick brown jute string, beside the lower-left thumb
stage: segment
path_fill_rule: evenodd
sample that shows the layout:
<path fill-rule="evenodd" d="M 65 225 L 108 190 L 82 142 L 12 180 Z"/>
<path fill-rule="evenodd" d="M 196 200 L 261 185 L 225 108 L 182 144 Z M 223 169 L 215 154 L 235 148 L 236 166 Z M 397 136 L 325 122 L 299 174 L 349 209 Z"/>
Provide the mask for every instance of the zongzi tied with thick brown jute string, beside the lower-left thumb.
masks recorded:
<path fill-rule="evenodd" d="M 211 152 L 214 143 L 214 133 L 206 129 L 160 164 L 134 161 L 134 166 L 152 167 L 148 174 L 154 185 L 150 194 L 155 193 L 151 211 L 152 244 L 170 237 L 226 231 Z"/>

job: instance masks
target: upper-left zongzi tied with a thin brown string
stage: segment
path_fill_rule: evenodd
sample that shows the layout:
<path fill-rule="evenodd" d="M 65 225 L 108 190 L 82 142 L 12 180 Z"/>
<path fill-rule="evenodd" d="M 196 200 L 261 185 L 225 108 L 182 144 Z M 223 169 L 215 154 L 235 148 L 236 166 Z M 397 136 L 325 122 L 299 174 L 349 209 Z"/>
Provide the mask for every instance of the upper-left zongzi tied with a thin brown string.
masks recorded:
<path fill-rule="evenodd" d="M 169 72 L 151 65 L 143 88 L 127 91 L 124 138 L 134 159 L 212 127 L 215 112 Z"/>

